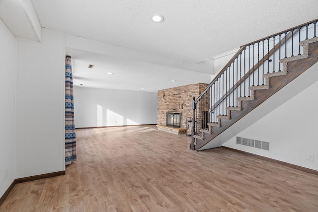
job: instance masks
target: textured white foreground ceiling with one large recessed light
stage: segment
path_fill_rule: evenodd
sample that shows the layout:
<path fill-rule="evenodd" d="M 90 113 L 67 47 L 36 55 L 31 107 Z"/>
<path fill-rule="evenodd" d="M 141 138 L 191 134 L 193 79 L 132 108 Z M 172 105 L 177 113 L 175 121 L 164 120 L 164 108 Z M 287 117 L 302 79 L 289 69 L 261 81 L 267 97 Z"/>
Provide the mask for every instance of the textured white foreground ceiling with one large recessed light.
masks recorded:
<path fill-rule="evenodd" d="M 32 2 L 43 27 L 188 63 L 314 20 L 318 10 L 317 0 Z"/>

